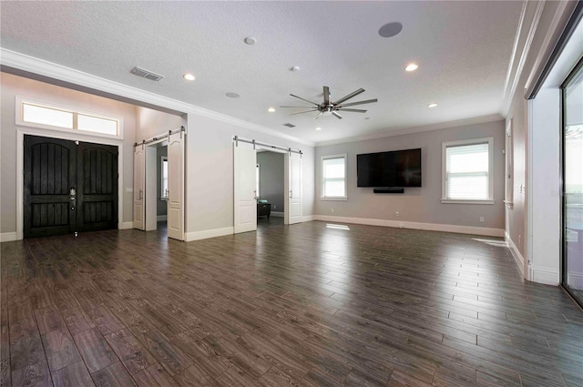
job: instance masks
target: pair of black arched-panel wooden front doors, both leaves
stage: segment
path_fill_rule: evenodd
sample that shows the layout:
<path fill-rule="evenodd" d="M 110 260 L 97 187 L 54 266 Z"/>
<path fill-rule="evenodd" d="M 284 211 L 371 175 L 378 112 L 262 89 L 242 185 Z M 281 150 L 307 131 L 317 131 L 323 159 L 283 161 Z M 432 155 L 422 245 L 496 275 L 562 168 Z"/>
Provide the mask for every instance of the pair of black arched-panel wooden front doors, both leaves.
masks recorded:
<path fill-rule="evenodd" d="M 25 136 L 24 237 L 118 228 L 118 147 Z"/>

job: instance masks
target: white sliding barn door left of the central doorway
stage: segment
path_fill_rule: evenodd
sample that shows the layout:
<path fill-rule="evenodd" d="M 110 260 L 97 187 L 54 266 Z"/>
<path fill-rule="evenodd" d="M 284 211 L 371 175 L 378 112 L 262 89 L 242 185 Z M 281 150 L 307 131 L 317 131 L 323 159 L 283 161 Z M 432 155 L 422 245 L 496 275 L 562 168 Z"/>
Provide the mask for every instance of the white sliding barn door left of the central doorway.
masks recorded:
<path fill-rule="evenodd" d="M 256 176 L 257 153 L 251 144 L 235 142 L 234 160 L 234 232 L 257 229 Z"/>

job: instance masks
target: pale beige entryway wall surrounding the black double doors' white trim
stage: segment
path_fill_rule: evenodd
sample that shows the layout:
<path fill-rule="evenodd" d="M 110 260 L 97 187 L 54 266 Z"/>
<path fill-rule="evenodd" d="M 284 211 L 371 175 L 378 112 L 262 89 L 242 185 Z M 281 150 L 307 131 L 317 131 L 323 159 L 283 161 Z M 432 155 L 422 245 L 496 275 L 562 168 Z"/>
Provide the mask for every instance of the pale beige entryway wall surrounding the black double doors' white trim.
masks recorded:
<path fill-rule="evenodd" d="M 16 232 L 16 125 L 15 125 L 15 97 L 28 97 L 47 104 L 56 104 L 71 107 L 87 112 L 94 112 L 105 116 L 123 118 L 123 179 L 125 187 L 132 187 L 131 158 L 133 143 L 136 135 L 136 107 L 104 97 L 97 97 L 87 93 L 57 87 L 22 76 L 0 73 L 0 87 L 2 89 L 2 127 L 0 133 L 2 153 L 0 166 L 1 201 L 0 233 Z M 132 220 L 132 194 L 124 190 L 123 219 L 119 222 Z"/>

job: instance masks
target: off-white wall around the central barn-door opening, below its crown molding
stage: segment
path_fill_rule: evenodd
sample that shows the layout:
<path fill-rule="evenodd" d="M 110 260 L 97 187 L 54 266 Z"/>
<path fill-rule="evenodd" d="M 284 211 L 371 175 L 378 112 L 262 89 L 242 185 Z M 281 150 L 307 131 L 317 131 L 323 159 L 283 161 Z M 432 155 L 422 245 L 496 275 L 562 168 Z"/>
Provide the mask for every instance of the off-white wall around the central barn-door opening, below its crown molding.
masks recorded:
<path fill-rule="evenodd" d="M 188 113 L 187 136 L 187 240 L 226 235 L 233 229 L 232 137 L 299 148 L 303 152 L 303 216 L 313 214 L 314 149 L 236 123 Z"/>

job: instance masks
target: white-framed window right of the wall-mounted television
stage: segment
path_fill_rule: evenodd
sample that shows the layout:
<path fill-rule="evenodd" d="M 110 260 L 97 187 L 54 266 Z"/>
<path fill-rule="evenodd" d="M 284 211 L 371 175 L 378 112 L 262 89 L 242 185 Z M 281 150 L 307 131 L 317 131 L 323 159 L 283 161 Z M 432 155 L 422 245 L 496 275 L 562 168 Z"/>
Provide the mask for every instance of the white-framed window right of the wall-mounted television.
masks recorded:
<path fill-rule="evenodd" d="M 494 204 L 492 137 L 443 143 L 442 203 Z"/>

